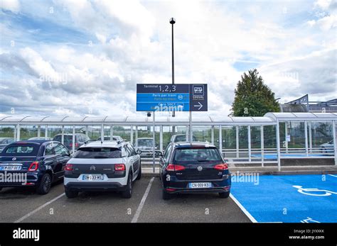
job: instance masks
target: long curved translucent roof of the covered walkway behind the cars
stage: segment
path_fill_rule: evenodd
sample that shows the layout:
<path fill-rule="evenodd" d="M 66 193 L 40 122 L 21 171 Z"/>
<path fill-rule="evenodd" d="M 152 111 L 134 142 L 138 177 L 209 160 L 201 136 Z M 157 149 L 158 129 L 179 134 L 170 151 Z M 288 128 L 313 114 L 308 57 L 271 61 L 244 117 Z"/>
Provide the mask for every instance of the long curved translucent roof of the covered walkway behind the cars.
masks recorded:
<path fill-rule="evenodd" d="M 263 117 L 194 116 L 194 125 L 275 125 L 277 121 L 336 121 L 337 113 L 266 113 Z M 188 125 L 188 116 L 156 116 L 156 125 Z M 151 125 L 151 117 L 0 116 L 0 125 Z"/>

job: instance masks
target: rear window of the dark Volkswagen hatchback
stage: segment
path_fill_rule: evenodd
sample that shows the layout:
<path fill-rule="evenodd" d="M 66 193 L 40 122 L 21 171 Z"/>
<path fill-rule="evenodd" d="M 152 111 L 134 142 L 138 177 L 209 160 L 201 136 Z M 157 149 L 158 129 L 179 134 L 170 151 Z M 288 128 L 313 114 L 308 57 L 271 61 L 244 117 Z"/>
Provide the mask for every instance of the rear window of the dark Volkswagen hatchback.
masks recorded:
<path fill-rule="evenodd" d="M 178 148 L 173 157 L 173 162 L 207 162 L 221 161 L 221 155 L 216 148 Z"/>

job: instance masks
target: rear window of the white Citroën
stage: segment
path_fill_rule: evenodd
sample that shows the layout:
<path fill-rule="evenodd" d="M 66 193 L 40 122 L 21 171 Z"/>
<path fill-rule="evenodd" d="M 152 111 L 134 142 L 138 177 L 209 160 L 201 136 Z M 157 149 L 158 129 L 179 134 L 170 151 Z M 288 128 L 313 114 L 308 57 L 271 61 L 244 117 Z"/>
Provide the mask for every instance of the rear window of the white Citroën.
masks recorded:
<path fill-rule="evenodd" d="M 100 159 L 100 158 L 121 158 L 122 151 L 117 147 L 81 147 L 73 158 Z"/>

